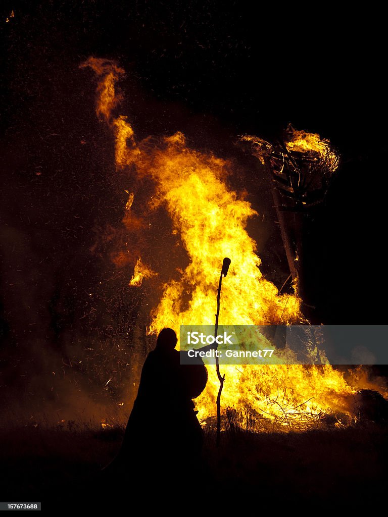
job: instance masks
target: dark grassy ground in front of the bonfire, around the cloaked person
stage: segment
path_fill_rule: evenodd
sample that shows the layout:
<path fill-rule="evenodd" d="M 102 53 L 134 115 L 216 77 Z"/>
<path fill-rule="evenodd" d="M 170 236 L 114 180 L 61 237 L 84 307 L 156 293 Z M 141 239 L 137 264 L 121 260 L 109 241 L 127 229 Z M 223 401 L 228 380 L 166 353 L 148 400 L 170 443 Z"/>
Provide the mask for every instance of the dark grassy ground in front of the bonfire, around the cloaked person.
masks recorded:
<path fill-rule="evenodd" d="M 125 497 L 114 484 L 105 484 L 99 477 L 101 467 L 120 449 L 123 432 L 120 427 L 101 430 L 76 425 L 3 429 L 2 500 L 71 504 L 76 493 L 88 497 L 98 493 L 100 505 Z M 217 449 L 210 431 L 203 448 L 206 476 L 193 486 L 193 497 L 222 493 L 229 505 L 242 499 L 245 504 L 257 500 L 262 505 L 331 499 L 345 504 L 355 497 L 375 500 L 385 496 L 387 437 L 385 428 L 372 423 L 302 433 L 229 430 L 222 434 Z M 152 493 L 157 482 L 152 478 L 152 466 L 150 473 L 144 491 Z M 172 486 L 179 491 L 182 473 L 172 474 Z M 132 475 L 136 479 L 136 472 Z M 130 486 L 126 489 L 130 491 Z"/>

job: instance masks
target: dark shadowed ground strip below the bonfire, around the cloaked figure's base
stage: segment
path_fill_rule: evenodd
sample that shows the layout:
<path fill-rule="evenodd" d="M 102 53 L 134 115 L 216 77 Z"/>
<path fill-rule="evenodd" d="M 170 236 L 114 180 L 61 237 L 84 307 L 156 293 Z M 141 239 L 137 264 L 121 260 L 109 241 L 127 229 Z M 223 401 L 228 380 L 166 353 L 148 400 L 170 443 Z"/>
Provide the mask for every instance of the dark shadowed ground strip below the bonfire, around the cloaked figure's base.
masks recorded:
<path fill-rule="evenodd" d="M 130 461 L 120 478 L 99 472 L 120 448 L 121 437 L 120 430 L 3 431 L 3 499 L 39 500 L 43 510 L 77 505 L 84 511 L 113 511 L 135 501 L 144 510 L 195 505 L 206 511 L 218 501 L 223 510 L 245 512 L 294 505 L 302 511 L 321 505 L 327 511 L 375 508 L 386 496 L 387 431 L 371 423 L 305 433 L 224 434 L 220 449 L 208 435 L 203 470 L 191 482 L 188 473 L 168 467 L 157 479 L 150 465 L 140 486 Z"/>

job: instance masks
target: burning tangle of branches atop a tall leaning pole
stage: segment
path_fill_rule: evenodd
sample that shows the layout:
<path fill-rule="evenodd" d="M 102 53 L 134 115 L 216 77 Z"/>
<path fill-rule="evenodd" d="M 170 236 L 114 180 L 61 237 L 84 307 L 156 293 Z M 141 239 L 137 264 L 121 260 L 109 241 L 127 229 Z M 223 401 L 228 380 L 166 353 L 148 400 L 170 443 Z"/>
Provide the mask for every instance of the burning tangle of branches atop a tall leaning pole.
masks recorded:
<path fill-rule="evenodd" d="M 305 307 L 314 309 L 303 275 L 304 235 L 311 231 L 313 216 L 323 205 L 339 155 L 329 140 L 291 125 L 276 142 L 252 135 L 243 136 L 242 141 L 251 144 L 251 153 L 267 171 L 293 283 Z"/>

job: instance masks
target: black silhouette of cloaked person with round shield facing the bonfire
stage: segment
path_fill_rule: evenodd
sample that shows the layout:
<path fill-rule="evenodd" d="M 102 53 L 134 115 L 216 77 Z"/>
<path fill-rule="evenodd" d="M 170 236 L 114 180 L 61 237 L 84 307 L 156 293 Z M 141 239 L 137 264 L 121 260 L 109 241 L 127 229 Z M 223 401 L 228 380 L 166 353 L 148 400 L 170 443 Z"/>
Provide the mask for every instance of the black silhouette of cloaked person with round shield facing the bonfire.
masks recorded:
<path fill-rule="evenodd" d="M 143 478 L 186 475 L 199 465 L 203 436 L 192 399 L 203 391 L 207 371 L 202 361 L 180 364 L 186 352 L 176 343 L 175 332 L 164 328 L 148 354 L 118 456 L 122 468 Z"/>

